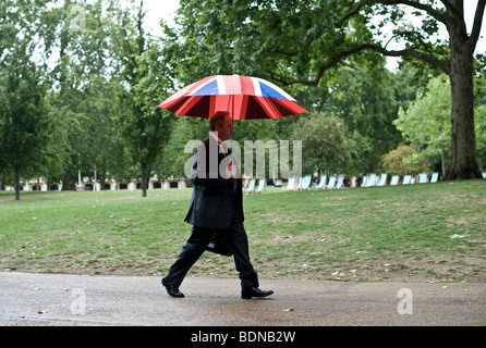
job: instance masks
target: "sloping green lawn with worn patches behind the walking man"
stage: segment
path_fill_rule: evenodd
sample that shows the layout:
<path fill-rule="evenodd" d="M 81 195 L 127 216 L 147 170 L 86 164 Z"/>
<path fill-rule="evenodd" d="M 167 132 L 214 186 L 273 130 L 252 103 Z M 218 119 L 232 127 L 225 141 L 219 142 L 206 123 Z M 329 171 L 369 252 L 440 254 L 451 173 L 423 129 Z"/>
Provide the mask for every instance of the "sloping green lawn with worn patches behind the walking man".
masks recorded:
<path fill-rule="evenodd" d="M 191 189 L 0 192 L 0 271 L 163 275 L 187 239 Z M 244 197 L 263 278 L 485 282 L 486 182 Z M 190 275 L 235 277 L 206 252 Z"/>

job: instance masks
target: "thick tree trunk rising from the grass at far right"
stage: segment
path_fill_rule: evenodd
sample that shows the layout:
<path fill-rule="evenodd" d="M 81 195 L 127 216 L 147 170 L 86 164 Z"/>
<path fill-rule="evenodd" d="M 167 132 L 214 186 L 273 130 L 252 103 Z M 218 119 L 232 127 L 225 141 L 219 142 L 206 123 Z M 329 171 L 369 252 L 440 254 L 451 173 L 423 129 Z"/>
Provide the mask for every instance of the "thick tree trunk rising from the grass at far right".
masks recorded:
<path fill-rule="evenodd" d="M 461 25 L 449 27 L 452 92 L 451 160 L 445 178 L 479 178 L 474 134 L 473 54 Z"/>

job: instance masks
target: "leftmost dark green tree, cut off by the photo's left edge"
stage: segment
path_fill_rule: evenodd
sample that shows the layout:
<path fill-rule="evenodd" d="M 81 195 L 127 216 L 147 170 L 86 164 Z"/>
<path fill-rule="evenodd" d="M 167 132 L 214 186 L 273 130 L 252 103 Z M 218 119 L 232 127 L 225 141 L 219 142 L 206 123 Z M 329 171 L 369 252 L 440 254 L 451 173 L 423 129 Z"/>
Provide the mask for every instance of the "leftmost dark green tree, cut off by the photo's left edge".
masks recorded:
<path fill-rule="evenodd" d="M 21 176 L 42 165 L 53 133 L 44 70 L 32 59 L 45 5 L 41 0 L 0 5 L 0 165 L 14 174 L 16 200 Z"/>

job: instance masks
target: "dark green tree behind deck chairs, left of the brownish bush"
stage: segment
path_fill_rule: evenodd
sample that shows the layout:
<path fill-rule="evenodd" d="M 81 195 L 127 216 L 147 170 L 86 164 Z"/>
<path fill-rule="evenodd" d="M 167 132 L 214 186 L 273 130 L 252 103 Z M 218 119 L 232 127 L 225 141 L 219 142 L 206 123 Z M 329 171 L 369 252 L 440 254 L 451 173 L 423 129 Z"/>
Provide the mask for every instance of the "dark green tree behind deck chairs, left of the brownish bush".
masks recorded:
<path fill-rule="evenodd" d="M 342 119 L 348 136 L 359 145 L 352 151 L 355 174 L 376 171 L 380 157 L 402 140 L 392 123 L 398 111 L 396 79 L 381 66 L 363 69 L 350 62 L 328 80 L 332 94 L 323 110 Z"/>

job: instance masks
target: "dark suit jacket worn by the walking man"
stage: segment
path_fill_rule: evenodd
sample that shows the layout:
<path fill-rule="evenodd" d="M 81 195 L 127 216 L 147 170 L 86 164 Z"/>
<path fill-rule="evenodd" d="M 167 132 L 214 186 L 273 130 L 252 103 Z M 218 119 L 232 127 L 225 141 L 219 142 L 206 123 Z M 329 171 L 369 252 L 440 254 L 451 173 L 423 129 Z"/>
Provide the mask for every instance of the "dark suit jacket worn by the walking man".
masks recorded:
<path fill-rule="evenodd" d="M 231 224 L 233 209 L 244 221 L 240 175 L 238 178 L 221 176 L 221 173 L 224 173 L 223 167 L 230 160 L 227 154 L 220 153 L 219 145 L 212 136 L 206 138 L 196 148 L 191 172 L 194 189 L 184 221 L 199 227 L 227 228 Z M 222 165 L 221 173 L 219 173 L 220 164 Z"/>

